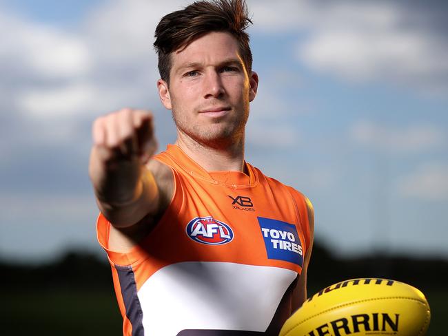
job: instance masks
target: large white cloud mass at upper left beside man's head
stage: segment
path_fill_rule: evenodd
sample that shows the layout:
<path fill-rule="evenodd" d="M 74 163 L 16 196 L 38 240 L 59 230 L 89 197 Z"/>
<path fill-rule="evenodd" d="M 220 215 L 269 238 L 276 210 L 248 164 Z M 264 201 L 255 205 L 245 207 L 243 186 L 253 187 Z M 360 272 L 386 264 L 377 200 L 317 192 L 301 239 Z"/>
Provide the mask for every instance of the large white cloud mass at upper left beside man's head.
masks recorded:
<path fill-rule="evenodd" d="M 154 29 L 167 10 L 181 4 L 101 3 L 74 32 L 0 14 L 0 29 L 12 32 L 0 43 L 0 81 L 7 85 L 20 76 L 23 83 L 8 99 L 33 118 L 75 119 L 145 98 L 148 107 L 158 107 Z"/>

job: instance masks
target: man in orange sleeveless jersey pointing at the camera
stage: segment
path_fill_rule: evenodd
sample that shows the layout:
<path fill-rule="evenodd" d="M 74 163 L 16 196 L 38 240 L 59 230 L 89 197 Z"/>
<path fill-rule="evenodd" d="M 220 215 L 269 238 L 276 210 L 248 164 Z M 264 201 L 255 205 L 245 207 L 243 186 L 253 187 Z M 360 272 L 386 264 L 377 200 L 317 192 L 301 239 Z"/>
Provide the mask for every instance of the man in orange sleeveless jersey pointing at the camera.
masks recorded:
<path fill-rule="evenodd" d="M 311 203 L 244 160 L 249 23 L 243 0 L 161 19 L 157 87 L 177 129 L 163 153 L 150 112 L 94 122 L 98 238 L 125 335 L 278 335 L 306 298 Z"/>

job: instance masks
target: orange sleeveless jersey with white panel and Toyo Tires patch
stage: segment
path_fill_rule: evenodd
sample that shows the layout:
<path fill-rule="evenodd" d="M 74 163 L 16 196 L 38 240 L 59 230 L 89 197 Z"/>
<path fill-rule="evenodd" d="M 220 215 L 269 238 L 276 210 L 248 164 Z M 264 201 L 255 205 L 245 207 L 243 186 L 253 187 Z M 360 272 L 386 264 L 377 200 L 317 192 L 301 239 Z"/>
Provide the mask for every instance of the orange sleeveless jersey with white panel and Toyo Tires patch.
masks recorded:
<path fill-rule="evenodd" d="M 310 244 L 304 196 L 247 163 L 207 172 L 176 145 L 155 159 L 175 188 L 152 232 L 117 253 L 97 222 L 124 335 L 278 335 Z"/>

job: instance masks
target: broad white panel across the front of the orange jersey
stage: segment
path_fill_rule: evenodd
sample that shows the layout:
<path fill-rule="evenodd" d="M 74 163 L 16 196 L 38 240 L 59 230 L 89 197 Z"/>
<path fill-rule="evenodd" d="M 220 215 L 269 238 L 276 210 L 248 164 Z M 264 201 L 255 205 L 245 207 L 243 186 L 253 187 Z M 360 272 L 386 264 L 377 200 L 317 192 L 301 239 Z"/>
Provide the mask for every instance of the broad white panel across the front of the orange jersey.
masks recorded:
<path fill-rule="evenodd" d="M 265 331 L 297 273 L 230 262 L 180 262 L 140 288 L 146 335 L 183 329 Z"/>

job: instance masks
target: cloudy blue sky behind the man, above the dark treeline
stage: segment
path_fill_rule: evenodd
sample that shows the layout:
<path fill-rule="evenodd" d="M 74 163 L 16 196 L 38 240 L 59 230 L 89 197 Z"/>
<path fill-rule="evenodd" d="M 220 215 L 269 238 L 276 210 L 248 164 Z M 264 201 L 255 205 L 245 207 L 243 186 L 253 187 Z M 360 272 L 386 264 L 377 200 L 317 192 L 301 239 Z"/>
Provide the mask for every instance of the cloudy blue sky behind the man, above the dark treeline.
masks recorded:
<path fill-rule="evenodd" d="M 101 253 L 90 125 L 152 109 L 157 21 L 187 1 L 0 0 L 0 257 Z M 260 87 L 247 160 L 314 203 L 336 255 L 448 258 L 448 40 L 442 1 L 248 1 Z"/>

